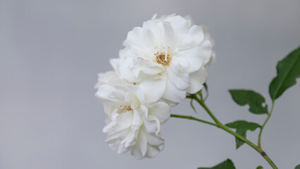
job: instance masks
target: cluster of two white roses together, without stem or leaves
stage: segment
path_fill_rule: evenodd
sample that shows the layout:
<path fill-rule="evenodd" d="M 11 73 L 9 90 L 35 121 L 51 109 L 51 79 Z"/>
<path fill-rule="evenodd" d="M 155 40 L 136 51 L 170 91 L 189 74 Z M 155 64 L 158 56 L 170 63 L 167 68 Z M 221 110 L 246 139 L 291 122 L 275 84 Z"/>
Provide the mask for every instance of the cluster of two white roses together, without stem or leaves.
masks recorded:
<path fill-rule="evenodd" d="M 154 16 L 131 30 L 124 46 L 111 59 L 114 71 L 99 74 L 96 84 L 107 114 L 103 132 L 118 154 L 153 158 L 164 146 L 161 124 L 170 118 L 170 106 L 206 82 L 213 40 L 189 18 Z"/>

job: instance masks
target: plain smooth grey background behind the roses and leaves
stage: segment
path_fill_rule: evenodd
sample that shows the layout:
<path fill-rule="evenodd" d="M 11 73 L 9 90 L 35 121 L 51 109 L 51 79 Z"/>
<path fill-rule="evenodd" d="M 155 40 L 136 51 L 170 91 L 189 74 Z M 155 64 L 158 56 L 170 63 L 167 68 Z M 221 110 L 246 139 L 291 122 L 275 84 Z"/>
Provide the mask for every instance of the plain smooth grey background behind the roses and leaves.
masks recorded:
<path fill-rule="evenodd" d="M 227 89 L 265 96 L 277 61 L 300 44 L 300 1 L 6 1 L 0 0 L 0 168 L 196 168 L 231 158 L 237 168 L 265 160 L 217 128 L 171 118 L 165 149 L 153 159 L 118 155 L 105 144 L 105 114 L 94 98 L 97 73 L 127 32 L 154 13 L 192 15 L 211 27 L 217 61 L 207 104 L 223 123 L 263 123 L 237 106 Z M 300 163 L 300 84 L 277 100 L 263 148 L 279 168 Z M 209 120 L 199 107 L 199 118 Z M 189 103 L 172 113 L 193 114 Z M 248 134 L 257 142 L 258 130 Z"/>

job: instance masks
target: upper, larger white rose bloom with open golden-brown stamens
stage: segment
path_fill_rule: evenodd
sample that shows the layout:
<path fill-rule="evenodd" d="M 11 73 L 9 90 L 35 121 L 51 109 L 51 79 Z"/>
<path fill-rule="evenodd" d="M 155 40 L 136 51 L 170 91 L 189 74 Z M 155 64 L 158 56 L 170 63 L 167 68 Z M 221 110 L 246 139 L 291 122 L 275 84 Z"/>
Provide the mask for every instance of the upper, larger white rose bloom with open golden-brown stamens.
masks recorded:
<path fill-rule="evenodd" d="M 203 87 L 215 55 L 208 30 L 180 15 L 146 21 L 124 45 L 120 58 L 111 60 L 120 78 L 139 84 L 146 101 L 170 105 Z"/>

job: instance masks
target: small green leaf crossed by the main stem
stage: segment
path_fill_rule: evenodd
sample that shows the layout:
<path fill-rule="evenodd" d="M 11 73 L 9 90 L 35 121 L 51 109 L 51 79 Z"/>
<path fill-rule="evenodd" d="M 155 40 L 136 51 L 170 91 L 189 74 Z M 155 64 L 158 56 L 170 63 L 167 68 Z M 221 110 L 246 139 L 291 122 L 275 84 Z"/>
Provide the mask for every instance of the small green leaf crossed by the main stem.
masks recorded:
<path fill-rule="evenodd" d="M 237 134 L 240 134 L 240 135 L 242 135 L 242 137 L 245 137 L 245 138 L 246 138 L 246 132 L 248 130 L 253 132 L 254 130 L 256 130 L 256 128 L 261 127 L 261 125 L 258 125 L 256 123 L 249 123 L 244 120 L 238 120 L 233 123 L 228 123 L 226 126 L 236 129 Z M 235 142 L 237 143 L 237 149 L 239 149 L 239 147 L 244 144 L 244 142 L 242 140 L 238 139 L 237 137 L 235 137 Z"/>

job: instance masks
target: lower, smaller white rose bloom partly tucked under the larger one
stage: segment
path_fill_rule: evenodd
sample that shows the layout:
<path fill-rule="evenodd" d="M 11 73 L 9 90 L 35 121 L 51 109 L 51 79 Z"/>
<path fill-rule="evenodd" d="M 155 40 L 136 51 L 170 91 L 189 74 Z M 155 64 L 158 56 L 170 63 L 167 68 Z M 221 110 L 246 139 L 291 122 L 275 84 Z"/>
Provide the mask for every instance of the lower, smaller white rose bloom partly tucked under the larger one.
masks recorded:
<path fill-rule="evenodd" d="M 96 96 L 108 115 L 103 132 L 118 154 L 130 151 L 137 159 L 153 158 L 163 150 L 161 124 L 170 118 L 168 104 L 147 104 L 139 86 L 127 84 L 114 72 L 99 75 Z"/>

